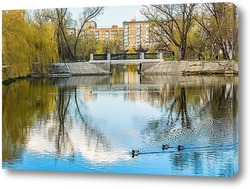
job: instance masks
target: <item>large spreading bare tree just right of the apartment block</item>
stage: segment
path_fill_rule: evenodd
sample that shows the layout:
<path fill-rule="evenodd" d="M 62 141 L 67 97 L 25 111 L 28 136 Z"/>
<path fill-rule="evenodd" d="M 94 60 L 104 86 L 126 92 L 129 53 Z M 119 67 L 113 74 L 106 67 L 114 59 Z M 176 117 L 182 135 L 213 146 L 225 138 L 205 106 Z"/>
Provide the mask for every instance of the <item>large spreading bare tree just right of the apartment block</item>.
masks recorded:
<path fill-rule="evenodd" d="M 141 13 L 151 22 L 153 37 L 165 47 L 171 43 L 179 50 L 178 57 L 186 56 L 188 33 L 193 25 L 196 4 L 161 4 L 144 6 Z"/>

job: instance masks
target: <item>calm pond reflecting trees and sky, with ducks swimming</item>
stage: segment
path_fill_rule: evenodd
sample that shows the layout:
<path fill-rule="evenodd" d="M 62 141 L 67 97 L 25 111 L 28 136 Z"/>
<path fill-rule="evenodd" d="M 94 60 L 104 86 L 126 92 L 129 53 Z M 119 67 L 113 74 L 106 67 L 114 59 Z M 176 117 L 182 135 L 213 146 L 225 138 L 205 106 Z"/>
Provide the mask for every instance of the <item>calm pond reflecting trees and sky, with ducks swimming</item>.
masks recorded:
<path fill-rule="evenodd" d="M 237 76 L 143 76 L 133 65 L 112 72 L 3 85 L 2 167 L 216 177 L 238 171 Z"/>

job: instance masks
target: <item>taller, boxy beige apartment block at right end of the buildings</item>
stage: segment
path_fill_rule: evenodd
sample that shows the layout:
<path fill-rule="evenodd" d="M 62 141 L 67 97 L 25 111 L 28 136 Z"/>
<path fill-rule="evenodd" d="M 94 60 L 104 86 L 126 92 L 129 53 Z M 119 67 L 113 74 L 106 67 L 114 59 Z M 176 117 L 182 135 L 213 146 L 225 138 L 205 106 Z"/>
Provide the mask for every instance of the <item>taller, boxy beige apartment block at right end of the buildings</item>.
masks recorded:
<path fill-rule="evenodd" d="M 123 22 L 124 49 L 148 50 L 155 45 L 150 35 L 150 23 L 148 21 Z"/>

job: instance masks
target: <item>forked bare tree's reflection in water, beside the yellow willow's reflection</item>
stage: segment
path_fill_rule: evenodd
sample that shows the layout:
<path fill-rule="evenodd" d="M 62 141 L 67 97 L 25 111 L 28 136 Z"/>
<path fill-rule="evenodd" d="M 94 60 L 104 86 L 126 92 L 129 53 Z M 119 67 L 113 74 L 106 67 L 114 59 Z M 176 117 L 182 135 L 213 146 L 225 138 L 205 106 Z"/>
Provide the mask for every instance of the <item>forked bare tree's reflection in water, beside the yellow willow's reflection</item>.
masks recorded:
<path fill-rule="evenodd" d="M 89 91 L 86 92 L 89 93 Z M 74 96 L 74 98 L 72 98 L 72 96 Z M 68 156 L 71 157 L 72 161 L 74 161 L 76 148 L 71 140 L 70 130 L 75 129 L 74 127 L 77 126 L 84 130 L 84 138 L 82 140 L 86 140 L 91 149 L 95 149 L 95 151 L 110 150 L 105 135 L 91 125 L 91 120 L 89 119 L 86 111 L 87 107 L 85 102 L 81 99 L 81 105 L 79 105 L 78 101 L 77 87 L 60 86 L 58 88 L 58 97 L 56 100 L 58 118 L 56 119 L 59 123 L 49 130 L 49 133 L 54 133 L 56 135 L 55 149 L 57 158 L 61 158 L 61 156 Z M 74 108 L 76 110 L 74 111 L 76 114 L 72 115 L 69 109 Z M 75 118 L 73 116 L 78 116 L 81 123 L 75 123 Z M 57 132 L 55 132 L 55 129 Z M 93 141 L 95 142 L 93 143 Z M 81 143 L 81 141 L 78 142 Z M 93 146 L 93 144 L 95 146 Z"/>

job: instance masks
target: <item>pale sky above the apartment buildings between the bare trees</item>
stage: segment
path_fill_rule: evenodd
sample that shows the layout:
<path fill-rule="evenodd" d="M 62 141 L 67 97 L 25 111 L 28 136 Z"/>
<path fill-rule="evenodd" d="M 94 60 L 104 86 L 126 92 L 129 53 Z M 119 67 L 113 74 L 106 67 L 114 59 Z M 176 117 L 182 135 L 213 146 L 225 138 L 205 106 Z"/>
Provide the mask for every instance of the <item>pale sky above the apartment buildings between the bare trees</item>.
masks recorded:
<path fill-rule="evenodd" d="M 97 27 L 111 27 L 112 25 L 118 25 L 122 27 L 124 21 L 130 21 L 136 17 L 136 20 L 145 20 L 140 14 L 142 6 L 109 6 L 104 7 L 103 14 L 98 16 L 95 21 Z M 81 8 L 70 8 L 72 16 L 75 20 L 78 19 L 79 13 L 82 11 Z"/>

